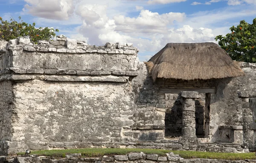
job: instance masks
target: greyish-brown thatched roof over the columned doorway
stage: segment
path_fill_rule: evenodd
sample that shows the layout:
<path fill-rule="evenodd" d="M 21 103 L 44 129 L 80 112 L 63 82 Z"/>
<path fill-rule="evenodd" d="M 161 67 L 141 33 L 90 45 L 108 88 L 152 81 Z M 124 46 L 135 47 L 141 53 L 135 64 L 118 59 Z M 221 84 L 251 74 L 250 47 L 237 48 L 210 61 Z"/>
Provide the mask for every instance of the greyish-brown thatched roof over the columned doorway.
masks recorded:
<path fill-rule="evenodd" d="M 146 62 L 155 81 L 167 79 L 218 79 L 243 76 L 244 72 L 215 43 L 168 43 Z"/>

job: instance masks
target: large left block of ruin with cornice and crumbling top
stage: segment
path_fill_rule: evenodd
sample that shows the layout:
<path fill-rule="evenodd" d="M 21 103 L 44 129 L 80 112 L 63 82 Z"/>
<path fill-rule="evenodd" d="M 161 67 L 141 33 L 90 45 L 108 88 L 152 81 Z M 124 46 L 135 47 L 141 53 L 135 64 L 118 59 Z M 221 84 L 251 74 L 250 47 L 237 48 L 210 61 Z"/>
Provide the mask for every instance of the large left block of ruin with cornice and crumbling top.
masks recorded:
<path fill-rule="evenodd" d="M 0 51 L 0 152 L 129 141 L 137 52 L 131 43 L 10 40 Z"/>

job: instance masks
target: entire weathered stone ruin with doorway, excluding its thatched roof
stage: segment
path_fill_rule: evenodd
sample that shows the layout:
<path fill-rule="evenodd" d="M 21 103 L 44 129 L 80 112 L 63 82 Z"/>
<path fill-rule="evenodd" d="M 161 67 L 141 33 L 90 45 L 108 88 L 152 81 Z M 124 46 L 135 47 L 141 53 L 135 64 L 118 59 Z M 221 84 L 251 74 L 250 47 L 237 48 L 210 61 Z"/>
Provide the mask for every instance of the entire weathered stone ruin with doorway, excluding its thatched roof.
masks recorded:
<path fill-rule="evenodd" d="M 25 149 L 249 152 L 256 64 L 245 76 L 156 80 L 131 43 L 0 41 L 0 155 Z"/>

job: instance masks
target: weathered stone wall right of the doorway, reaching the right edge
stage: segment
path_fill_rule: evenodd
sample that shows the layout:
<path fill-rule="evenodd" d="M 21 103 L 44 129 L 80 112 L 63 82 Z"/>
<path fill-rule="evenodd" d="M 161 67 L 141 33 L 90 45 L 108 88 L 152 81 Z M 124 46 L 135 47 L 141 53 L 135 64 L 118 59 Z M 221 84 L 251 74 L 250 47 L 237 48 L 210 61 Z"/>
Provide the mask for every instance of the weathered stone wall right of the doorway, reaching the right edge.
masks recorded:
<path fill-rule="evenodd" d="M 240 137 L 240 139 L 248 148 L 253 136 L 253 132 L 248 129 L 249 123 L 252 122 L 252 111 L 249 108 L 248 98 L 255 96 L 256 65 L 240 63 L 240 66 L 245 76 L 220 80 L 216 86 L 216 94 L 211 94 L 210 136 L 212 141 L 228 142 L 232 139 L 228 132 L 235 130 L 238 135 L 243 132 L 243 138 Z M 238 94 L 240 95 L 238 96 Z M 226 131 L 220 131 L 219 126 Z M 225 137 L 221 137 L 222 132 L 227 132 Z"/>

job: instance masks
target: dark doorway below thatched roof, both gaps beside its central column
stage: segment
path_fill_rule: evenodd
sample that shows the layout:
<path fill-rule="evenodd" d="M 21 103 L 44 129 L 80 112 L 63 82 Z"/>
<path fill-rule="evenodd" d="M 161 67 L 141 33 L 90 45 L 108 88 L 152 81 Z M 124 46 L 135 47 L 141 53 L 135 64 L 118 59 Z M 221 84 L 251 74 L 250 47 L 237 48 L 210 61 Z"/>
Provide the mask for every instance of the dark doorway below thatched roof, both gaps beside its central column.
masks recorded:
<path fill-rule="evenodd" d="M 195 129 L 198 138 L 209 136 L 211 94 L 199 94 L 195 99 Z M 182 98 L 178 94 L 166 94 L 165 137 L 182 136 Z"/>

